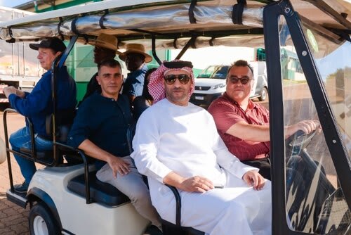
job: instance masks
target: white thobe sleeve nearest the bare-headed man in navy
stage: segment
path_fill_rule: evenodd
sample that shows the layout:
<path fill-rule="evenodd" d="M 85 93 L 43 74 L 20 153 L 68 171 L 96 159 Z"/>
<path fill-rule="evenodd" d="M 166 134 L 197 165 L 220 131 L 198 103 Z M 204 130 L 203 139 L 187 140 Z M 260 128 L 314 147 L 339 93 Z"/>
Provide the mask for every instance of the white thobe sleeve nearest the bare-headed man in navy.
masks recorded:
<path fill-rule="evenodd" d="M 135 136 L 133 139 L 133 153 L 135 166 L 140 174 L 157 179 L 163 183 L 164 177 L 171 172 L 157 159 L 157 149 L 159 148 L 159 126 L 157 118 L 151 112 L 145 112 L 140 116 L 136 125 Z"/>

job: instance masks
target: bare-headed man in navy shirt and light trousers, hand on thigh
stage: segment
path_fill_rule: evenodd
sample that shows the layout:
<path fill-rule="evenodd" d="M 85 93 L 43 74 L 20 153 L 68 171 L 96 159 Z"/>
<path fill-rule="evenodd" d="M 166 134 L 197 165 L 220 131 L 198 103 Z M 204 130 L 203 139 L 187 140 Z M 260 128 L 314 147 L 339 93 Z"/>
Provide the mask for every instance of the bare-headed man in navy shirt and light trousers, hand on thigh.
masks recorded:
<path fill-rule="evenodd" d="M 95 91 L 79 106 L 67 144 L 97 159 L 96 177 L 126 194 L 140 215 L 152 222 L 150 229 L 159 231 L 149 189 L 129 156 L 126 132 L 133 117 L 127 96 L 119 94 L 121 65 L 114 59 L 102 61 L 96 80 L 101 92 Z"/>

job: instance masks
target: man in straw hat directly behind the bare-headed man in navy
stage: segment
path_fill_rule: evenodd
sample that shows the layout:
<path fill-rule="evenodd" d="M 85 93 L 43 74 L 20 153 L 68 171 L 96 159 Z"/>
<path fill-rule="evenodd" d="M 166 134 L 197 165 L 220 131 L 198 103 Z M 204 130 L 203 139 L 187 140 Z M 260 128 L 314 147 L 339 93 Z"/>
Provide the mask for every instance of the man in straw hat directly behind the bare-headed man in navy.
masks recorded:
<path fill-rule="evenodd" d="M 94 63 L 99 65 L 104 60 L 113 59 L 116 54 L 119 54 L 117 51 L 117 38 L 110 34 L 99 34 L 99 36 L 93 40 L 89 39 L 88 44 L 91 44 L 94 47 Z M 95 91 L 101 92 L 101 87 L 96 80 L 98 72 L 91 77 L 91 80 L 86 87 L 86 94 L 82 101 L 84 101 L 88 96 L 91 96 Z"/>

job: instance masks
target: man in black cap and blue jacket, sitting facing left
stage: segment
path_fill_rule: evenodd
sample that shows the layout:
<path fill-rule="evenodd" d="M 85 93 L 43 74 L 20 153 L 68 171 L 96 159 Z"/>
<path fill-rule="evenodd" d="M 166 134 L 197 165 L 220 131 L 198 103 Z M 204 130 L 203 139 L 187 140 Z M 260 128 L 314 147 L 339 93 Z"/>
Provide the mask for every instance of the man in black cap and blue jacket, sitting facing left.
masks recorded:
<path fill-rule="evenodd" d="M 4 94 L 8 97 L 11 106 L 18 113 L 29 118 L 34 127 L 35 147 L 37 151 L 46 151 L 53 148 L 52 136 L 46 134 L 46 116 L 53 112 L 53 101 L 51 97 L 51 64 L 57 56 L 65 51 L 65 44 L 58 38 L 52 37 L 40 42 L 40 44 L 29 44 L 31 49 L 39 52 L 37 58 L 44 70 L 48 70 L 42 75 L 32 92 L 24 92 L 15 87 L 6 87 Z M 69 76 L 66 66 L 58 70 L 57 77 L 57 108 L 60 110 L 74 110 L 77 100 L 76 83 Z M 31 148 L 28 124 L 11 134 L 10 144 L 14 151 L 20 151 L 20 148 Z M 14 154 L 15 159 L 20 165 L 20 170 L 25 182 L 15 186 L 15 191 L 24 193 L 27 191 L 36 167 L 34 162 L 20 155 Z"/>

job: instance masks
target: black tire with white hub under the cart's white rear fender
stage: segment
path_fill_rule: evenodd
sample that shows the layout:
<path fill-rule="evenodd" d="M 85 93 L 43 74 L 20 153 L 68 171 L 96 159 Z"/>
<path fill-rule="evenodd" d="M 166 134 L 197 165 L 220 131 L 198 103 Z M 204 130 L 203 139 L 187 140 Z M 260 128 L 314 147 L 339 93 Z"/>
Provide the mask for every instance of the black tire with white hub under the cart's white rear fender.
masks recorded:
<path fill-rule="evenodd" d="M 60 234 L 58 223 L 45 203 L 37 203 L 29 212 L 29 230 L 31 235 Z"/>

